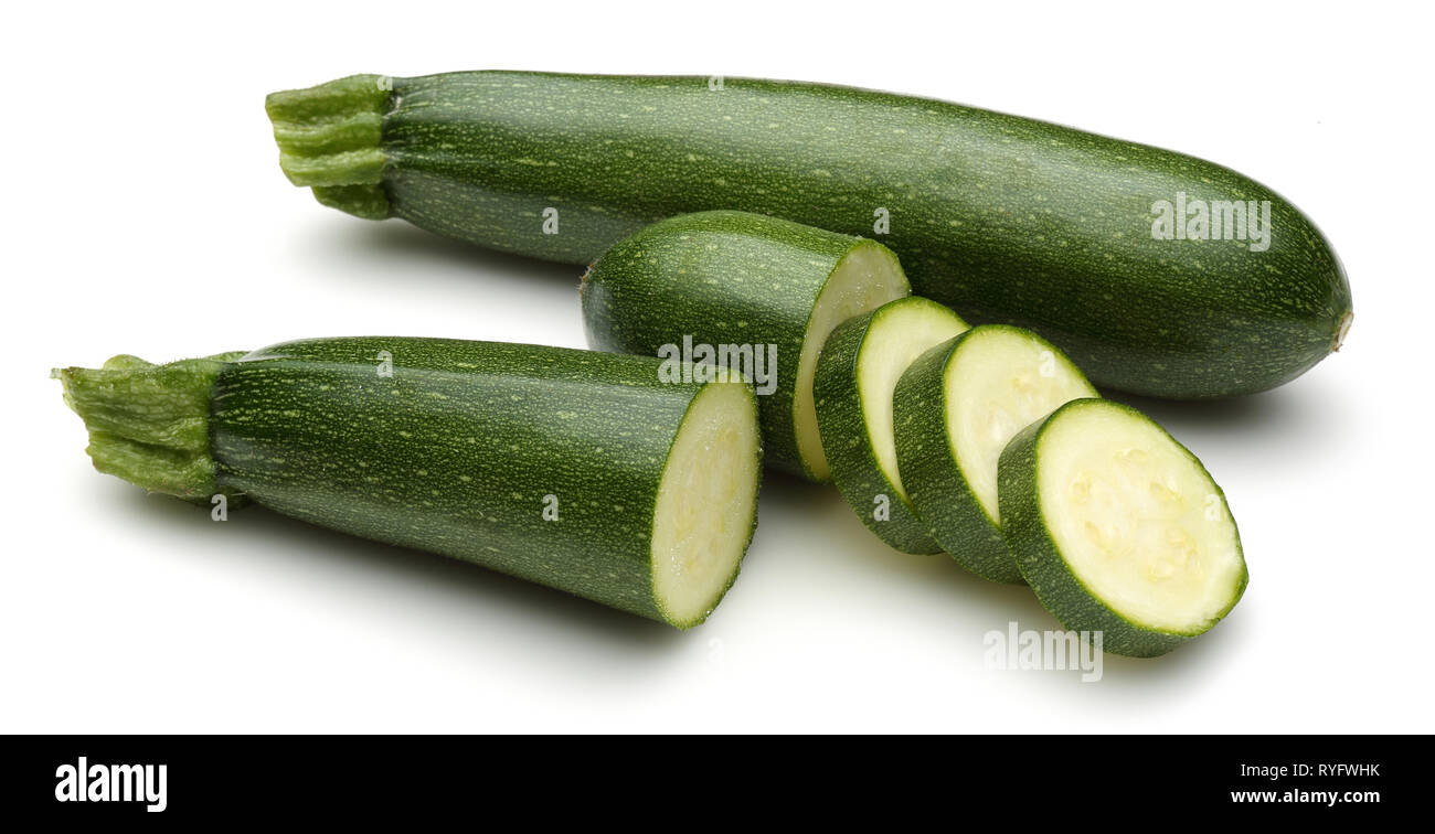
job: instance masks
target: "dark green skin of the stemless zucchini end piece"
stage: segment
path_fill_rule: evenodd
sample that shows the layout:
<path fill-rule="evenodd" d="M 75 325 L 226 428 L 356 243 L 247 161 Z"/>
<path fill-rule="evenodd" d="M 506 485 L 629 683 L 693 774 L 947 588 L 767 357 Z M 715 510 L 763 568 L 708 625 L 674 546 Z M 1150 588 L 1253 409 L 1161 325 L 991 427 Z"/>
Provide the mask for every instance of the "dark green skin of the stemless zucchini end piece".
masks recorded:
<path fill-rule="evenodd" d="M 716 211 L 660 221 L 617 242 L 584 275 L 588 344 L 643 355 L 682 345 L 684 335 L 695 344 L 776 345 L 776 388 L 758 397 L 766 461 L 824 480 L 798 447 L 798 363 L 818 295 L 860 246 L 897 265 L 872 241 L 763 215 Z"/>

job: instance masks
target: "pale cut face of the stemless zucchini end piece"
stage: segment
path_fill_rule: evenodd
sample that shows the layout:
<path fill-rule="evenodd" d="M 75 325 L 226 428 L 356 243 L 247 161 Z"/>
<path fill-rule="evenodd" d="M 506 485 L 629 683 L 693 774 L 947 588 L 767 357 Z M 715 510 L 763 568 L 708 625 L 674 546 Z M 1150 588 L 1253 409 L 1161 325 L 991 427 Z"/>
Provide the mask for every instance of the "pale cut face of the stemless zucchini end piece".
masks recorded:
<path fill-rule="evenodd" d="M 822 285 L 822 292 L 818 294 L 812 315 L 808 318 L 806 334 L 802 337 L 802 355 L 798 360 L 796 393 L 792 403 L 798 453 L 814 479 L 832 477 L 832 467 L 822 451 L 817 403 L 812 396 L 812 374 L 827 337 L 848 318 L 908 294 L 911 288 L 897 259 L 891 252 L 871 244 L 858 245 L 848 252 Z"/>

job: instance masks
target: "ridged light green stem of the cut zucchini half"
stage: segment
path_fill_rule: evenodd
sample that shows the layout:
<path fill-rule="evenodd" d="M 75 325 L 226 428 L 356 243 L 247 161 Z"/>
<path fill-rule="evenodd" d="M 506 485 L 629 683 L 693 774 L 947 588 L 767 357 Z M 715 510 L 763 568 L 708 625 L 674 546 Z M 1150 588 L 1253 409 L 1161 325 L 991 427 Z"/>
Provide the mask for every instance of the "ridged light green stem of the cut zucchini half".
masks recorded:
<path fill-rule="evenodd" d="M 243 353 L 155 365 L 118 355 L 102 368 L 52 375 L 65 403 L 85 420 L 95 469 L 149 492 L 197 504 L 238 496 L 215 483 L 210 456 L 210 391 L 224 363 Z"/>

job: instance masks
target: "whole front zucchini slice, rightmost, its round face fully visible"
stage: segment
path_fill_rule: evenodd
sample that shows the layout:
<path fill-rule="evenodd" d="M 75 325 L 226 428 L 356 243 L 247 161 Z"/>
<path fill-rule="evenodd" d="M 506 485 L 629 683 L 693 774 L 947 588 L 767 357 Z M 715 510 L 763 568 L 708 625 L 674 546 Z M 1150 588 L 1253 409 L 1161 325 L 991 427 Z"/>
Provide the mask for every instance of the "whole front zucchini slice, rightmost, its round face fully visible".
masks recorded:
<path fill-rule="evenodd" d="M 1149 658 L 1205 633 L 1246 590 L 1225 494 L 1129 406 L 1072 400 L 997 469 L 1002 529 L 1042 605 L 1102 648 Z"/>

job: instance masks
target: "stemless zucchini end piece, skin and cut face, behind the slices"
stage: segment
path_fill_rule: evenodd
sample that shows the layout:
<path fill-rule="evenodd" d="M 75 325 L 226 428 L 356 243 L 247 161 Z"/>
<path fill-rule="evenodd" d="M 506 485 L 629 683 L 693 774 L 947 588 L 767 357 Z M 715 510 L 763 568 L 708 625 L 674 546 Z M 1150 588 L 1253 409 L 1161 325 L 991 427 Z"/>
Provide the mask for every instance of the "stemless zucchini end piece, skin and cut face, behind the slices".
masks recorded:
<path fill-rule="evenodd" d="M 825 481 L 831 469 L 812 406 L 817 355 L 838 322 L 910 288 L 881 244 L 716 211 L 624 238 L 588 268 L 581 294 L 591 347 L 670 360 L 707 351 L 722 354 L 710 363 L 746 365 L 759 377 L 768 463 Z"/>

